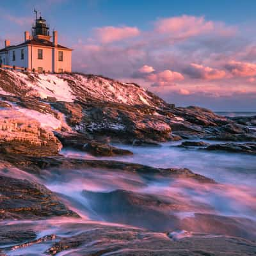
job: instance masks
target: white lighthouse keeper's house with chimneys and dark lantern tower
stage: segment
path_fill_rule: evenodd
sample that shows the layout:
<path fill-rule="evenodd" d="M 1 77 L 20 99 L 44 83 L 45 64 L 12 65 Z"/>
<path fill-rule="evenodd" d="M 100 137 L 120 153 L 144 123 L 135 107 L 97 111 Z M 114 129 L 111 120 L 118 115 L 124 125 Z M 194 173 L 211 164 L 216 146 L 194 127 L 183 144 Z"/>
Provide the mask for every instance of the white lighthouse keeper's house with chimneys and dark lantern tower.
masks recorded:
<path fill-rule="evenodd" d="M 51 40 L 52 38 L 52 40 Z M 72 49 L 58 44 L 58 31 L 49 33 L 46 20 L 35 20 L 29 31 L 24 32 L 24 42 L 12 45 L 5 40 L 4 49 L 0 50 L 0 64 L 24 67 L 37 72 L 71 72 Z"/>

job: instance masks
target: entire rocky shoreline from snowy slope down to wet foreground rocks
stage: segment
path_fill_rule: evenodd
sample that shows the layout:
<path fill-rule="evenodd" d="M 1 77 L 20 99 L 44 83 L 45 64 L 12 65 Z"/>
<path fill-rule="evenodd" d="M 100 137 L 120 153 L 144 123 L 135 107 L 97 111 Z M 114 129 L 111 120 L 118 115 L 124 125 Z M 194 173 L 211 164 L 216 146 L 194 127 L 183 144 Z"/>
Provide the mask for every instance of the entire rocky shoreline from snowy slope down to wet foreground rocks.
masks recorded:
<path fill-rule="evenodd" d="M 143 149 L 161 147 L 166 141 L 177 141 L 184 150 L 252 156 L 256 116 L 227 118 L 204 108 L 177 108 L 137 84 L 101 76 L 0 69 L 0 87 L 0 255 L 13 250 L 15 255 L 39 255 L 36 249 L 22 254 L 24 248 L 38 244 L 42 255 L 255 253 L 254 220 L 223 216 L 208 202 L 181 200 L 179 186 L 184 191 L 219 189 L 222 185 L 214 179 L 188 168 L 155 168 L 97 157 L 132 156 L 131 150 L 113 143 Z M 96 159 L 65 157 L 61 148 Z M 94 188 L 93 173 L 99 170 L 99 180 L 112 179 L 106 184 L 102 180 L 106 191 L 79 188 L 80 199 L 74 202 L 65 193 L 68 185 L 63 193 L 49 189 L 60 179 L 67 183 L 73 173 L 76 180 Z M 115 179 L 118 186 L 110 189 Z M 167 181 L 173 195 L 147 191 L 152 184 Z M 97 212 L 104 221 L 84 220 L 77 205 Z M 195 214 L 180 218 L 181 212 Z M 58 225 L 54 218 L 61 218 Z M 8 221 L 12 222 L 6 225 Z M 36 226 L 37 221 L 43 221 L 42 227 Z"/>

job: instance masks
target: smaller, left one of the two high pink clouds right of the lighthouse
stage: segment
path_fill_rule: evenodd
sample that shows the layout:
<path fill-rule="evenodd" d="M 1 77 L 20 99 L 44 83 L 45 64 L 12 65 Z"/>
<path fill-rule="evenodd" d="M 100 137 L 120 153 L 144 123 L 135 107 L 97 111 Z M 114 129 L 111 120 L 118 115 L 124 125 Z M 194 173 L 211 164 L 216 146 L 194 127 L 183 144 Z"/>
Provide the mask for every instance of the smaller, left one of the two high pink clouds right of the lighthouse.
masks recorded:
<path fill-rule="evenodd" d="M 140 35 L 140 30 L 136 27 L 103 27 L 95 29 L 98 40 L 104 44 L 116 42 Z"/>

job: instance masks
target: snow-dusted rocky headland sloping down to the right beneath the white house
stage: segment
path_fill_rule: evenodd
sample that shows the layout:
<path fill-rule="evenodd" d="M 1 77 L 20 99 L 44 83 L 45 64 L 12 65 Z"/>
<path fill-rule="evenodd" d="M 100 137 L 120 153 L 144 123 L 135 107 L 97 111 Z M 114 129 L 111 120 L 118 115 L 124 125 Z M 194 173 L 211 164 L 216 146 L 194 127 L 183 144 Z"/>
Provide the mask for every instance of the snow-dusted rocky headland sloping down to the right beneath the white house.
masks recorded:
<path fill-rule="evenodd" d="M 27 124 L 33 120 L 30 138 L 27 131 L 23 133 L 22 127 L 8 119 L 8 129 L 14 125 L 20 130 L 19 141 L 24 140 L 24 136 L 35 145 L 54 141 L 57 146 L 53 151 L 61 148 L 57 138 L 69 147 L 92 140 L 134 145 L 180 138 L 256 140 L 241 120 L 237 124 L 236 120 L 203 108 L 175 108 L 137 84 L 120 83 L 102 76 L 0 70 L 0 100 L 2 108 L 8 109 L 3 113 L 10 116 L 16 113 Z M 5 117 L 6 114 L 1 115 L 1 124 L 6 124 Z M 38 122 L 40 127 L 36 128 Z M 13 133 L 6 140 L 12 136 Z"/>

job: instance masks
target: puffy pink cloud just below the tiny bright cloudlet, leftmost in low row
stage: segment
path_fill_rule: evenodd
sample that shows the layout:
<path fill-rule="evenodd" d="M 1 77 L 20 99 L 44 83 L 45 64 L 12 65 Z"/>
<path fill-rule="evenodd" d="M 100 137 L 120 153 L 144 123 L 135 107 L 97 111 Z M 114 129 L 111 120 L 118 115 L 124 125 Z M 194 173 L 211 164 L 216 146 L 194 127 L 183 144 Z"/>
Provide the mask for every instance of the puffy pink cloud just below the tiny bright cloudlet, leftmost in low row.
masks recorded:
<path fill-rule="evenodd" d="M 150 74 L 147 76 L 148 81 L 154 82 L 154 86 L 170 86 L 175 81 L 184 80 L 184 76 L 179 72 L 172 70 L 164 70 L 159 73 Z"/>

